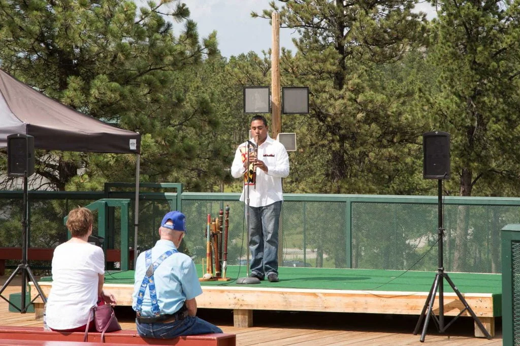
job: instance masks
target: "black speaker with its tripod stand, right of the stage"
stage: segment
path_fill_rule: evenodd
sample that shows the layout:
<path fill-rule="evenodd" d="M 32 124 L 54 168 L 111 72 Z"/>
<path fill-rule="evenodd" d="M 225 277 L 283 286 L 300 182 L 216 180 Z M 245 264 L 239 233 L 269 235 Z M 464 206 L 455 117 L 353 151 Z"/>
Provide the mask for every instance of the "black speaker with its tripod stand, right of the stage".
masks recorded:
<path fill-rule="evenodd" d="M 432 288 L 428 293 L 428 297 L 424 303 L 424 307 L 419 316 L 419 321 L 415 325 L 413 335 L 419 333 L 419 328 L 424 320 L 424 326 L 421 333 L 420 341 L 424 342 L 426 331 L 428 329 L 428 322 L 433 319 L 436 323 L 439 333 L 444 333 L 448 327 L 455 322 L 459 316 L 465 311 L 469 312 L 473 317 L 473 320 L 478 325 L 482 333 L 486 338 L 491 339 L 491 335 L 488 333 L 486 328 L 478 317 L 475 315 L 471 307 L 467 304 L 466 299 L 459 292 L 457 286 L 451 281 L 448 273 L 444 271 L 444 259 L 443 259 L 443 239 L 444 239 L 444 223 L 443 223 L 443 180 L 449 179 L 450 177 L 450 134 L 442 131 L 426 132 L 423 134 L 423 178 L 424 179 L 437 179 L 438 180 L 438 228 L 437 228 L 437 247 L 438 247 L 438 267 L 435 280 L 432 284 Z M 448 324 L 444 323 L 444 280 L 453 289 L 453 292 L 457 294 L 460 301 L 464 305 L 464 309 L 453 318 Z M 435 296 L 439 292 L 439 317 L 433 312 L 433 304 L 435 302 Z"/>

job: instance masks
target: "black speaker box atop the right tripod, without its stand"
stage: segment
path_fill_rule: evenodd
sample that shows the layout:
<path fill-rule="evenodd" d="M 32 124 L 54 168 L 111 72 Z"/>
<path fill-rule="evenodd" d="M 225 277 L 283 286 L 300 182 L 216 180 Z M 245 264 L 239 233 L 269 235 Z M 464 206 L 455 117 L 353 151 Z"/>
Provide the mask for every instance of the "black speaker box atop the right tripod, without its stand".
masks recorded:
<path fill-rule="evenodd" d="M 423 134 L 423 178 L 450 178 L 450 134 L 443 131 Z"/>

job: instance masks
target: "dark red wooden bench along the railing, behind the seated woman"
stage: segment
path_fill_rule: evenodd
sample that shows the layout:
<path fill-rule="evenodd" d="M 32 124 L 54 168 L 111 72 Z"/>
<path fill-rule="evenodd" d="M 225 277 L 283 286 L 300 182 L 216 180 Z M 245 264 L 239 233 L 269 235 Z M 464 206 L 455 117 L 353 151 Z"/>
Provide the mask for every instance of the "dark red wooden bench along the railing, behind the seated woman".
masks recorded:
<path fill-rule="evenodd" d="M 54 248 L 30 247 L 27 249 L 27 259 L 37 261 L 53 260 Z M 5 261 L 7 259 L 22 259 L 21 247 L 0 247 L 0 276 L 5 275 Z M 129 261 L 134 260 L 134 251 L 129 253 Z M 107 249 L 107 262 L 121 261 L 121 250 Z"/>

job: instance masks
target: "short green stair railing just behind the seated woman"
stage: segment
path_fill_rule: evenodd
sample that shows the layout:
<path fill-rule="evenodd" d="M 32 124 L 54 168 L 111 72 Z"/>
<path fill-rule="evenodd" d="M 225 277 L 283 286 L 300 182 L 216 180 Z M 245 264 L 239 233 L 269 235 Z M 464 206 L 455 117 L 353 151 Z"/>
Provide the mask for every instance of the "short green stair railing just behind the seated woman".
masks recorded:
<path fill-rule="evenodd" d="M 130 205 L 129 199 L 100 199 L 85 207 L 93 212 L 97 212 L 98 215 L 98 230 L 97 236 L 106 239 L 106 228 L 107 228 L 107 213 L 108 207 L 119 207 L 121 208 L 121 227 L 120 227 L 120 240 L 121 240 L 121 249 L 128 249 L 128 206 Z M 67 219 L 69 216 L 65 216 L 63 218 L 63 225 L 67 225 Z M 67 233 L 68 238 L 70 239 L 70 232 Z M 107 254 L 107 247 L 103 246 L 103 252 L 105 252 L 105 257 Z M 121 262 L 120 262 L 121 270 L 128 270 L 128 251 L 121 251 Z"/>

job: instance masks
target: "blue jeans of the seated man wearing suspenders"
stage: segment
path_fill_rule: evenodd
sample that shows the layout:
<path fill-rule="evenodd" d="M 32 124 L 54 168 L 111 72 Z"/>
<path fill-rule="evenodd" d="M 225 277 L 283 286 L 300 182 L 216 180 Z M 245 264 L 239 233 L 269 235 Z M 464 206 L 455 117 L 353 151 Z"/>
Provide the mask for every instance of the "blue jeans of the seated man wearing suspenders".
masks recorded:
<path fill-rule="evenodd" d="M 178 336 L 222 333 L 222 329 L 199 317 L 187 316 L 172 323 L 141 323 L 135 321 L 137 333 L 144 338 L 173 339 Z"/>

